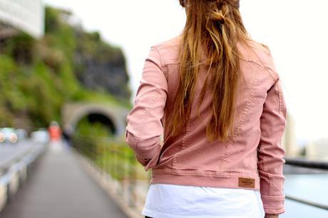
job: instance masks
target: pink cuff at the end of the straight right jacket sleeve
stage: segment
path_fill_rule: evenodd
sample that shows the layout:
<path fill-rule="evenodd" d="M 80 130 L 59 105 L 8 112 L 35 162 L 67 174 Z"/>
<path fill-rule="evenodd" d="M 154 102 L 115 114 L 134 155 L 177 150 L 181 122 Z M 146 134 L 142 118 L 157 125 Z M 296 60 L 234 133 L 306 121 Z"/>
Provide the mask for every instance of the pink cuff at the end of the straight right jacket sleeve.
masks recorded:
<path fill-rule="evenodd" d="M 261 194 L 265 214 L 283 214 L 285 212 L 285 194 L 283 196 L 268 196 Z"/>

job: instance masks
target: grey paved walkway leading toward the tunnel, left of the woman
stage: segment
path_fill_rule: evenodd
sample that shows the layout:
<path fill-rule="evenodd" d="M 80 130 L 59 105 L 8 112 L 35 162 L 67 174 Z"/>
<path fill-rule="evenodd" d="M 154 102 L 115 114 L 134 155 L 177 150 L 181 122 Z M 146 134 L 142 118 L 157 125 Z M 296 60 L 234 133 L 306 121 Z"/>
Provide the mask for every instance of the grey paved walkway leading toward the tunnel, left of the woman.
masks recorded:
<path fill-rule="evenodd" d="M 68 148 L 48 149 L 1 218 L 126 218 Z"/>

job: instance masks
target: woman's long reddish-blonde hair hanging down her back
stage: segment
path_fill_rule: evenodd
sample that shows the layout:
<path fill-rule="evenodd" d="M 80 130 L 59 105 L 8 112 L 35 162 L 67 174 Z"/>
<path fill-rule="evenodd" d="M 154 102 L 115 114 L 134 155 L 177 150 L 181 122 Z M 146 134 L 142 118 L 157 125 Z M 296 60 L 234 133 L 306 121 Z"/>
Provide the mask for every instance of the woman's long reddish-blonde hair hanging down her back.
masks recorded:
<path fill-rule="evenodd" d="M 187 21 L 180 48 L 180 81 L 171 113 L 170 134 L 177 135 L 188 122 L 198 73 L 205 67 L 207 76 L 200 93 L 198 116 L 210 81 L 212 118 L 206 134 L 211 141 L 215 138 L 226 141 L 233 128 L 240 78 L 237 41 L 250 40 L 240 16 L 240 1 L 180 0 L 180 4 L 185 7 Z"/>

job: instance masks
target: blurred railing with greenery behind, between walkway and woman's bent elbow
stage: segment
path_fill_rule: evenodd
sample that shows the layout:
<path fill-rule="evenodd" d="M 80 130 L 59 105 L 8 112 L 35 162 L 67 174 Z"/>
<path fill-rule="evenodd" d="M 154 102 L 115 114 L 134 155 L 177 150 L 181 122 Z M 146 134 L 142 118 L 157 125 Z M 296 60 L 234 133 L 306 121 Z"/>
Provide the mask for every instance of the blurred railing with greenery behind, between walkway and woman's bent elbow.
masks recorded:
<path fill-rule="evenodd" d="M 101 172 L 116 197 L 132 209 L 143 206 L 149 187 L 150 172 L 138 164 L 125 140 L 114 137 L 72 137 L 73 148 L 88 165 Z"/>

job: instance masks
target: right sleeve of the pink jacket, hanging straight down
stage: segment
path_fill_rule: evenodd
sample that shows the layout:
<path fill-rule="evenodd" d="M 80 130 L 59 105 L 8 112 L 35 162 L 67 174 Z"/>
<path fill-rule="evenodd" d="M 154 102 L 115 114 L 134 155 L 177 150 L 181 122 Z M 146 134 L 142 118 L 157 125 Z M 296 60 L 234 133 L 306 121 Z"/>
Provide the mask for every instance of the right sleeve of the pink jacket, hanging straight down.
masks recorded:
<path fill-rule="evenodd" d="M 266 214 L 285 212 L 285 149 L 282 135 L 287 123 L 287 108 L 278 77 L 267 91 L 260 118 L 261 138 L 257 147 L 257 168 L 260 176 L 260 192 Z"/>

